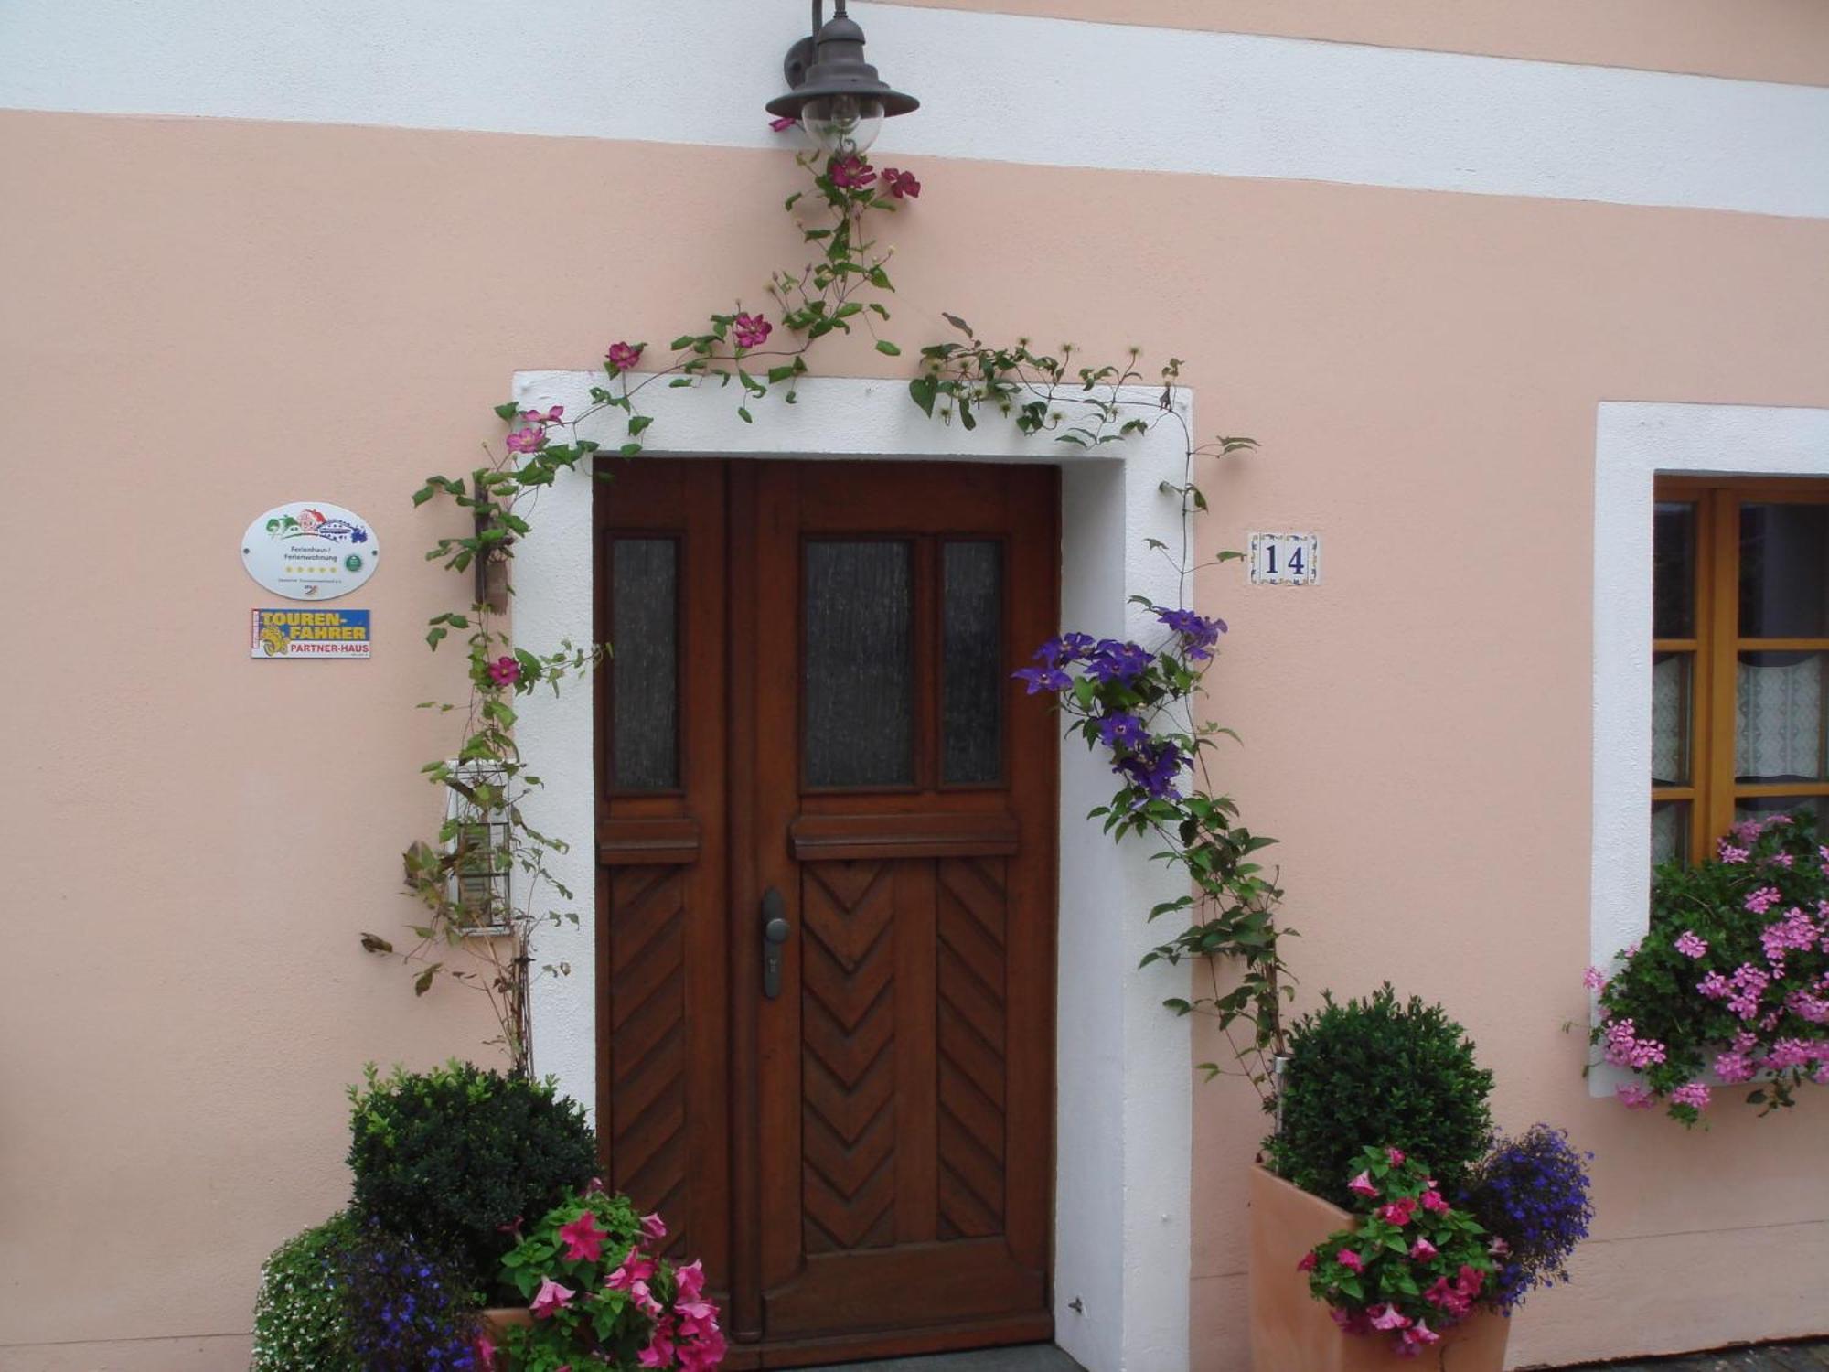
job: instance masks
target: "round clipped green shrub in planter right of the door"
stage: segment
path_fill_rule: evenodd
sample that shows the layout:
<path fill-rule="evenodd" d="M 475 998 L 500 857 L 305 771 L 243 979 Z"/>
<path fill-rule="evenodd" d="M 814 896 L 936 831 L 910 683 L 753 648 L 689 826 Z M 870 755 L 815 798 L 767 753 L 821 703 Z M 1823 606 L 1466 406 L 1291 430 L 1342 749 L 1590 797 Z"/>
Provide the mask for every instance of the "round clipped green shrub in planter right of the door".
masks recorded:
<path fill-rule="evenodd" d="M 1492 1136 L 1492 1074 L 1441 1006 L 1397 999 L 1322 1006 L 1289 1030 L 1282 1129 L 1264 1140 L 1271 1171 L 1335 1206 L 1352 1204 L 1350 1163 L 1366 1140 L 1427 1158 L 1454 1195 Z"/>

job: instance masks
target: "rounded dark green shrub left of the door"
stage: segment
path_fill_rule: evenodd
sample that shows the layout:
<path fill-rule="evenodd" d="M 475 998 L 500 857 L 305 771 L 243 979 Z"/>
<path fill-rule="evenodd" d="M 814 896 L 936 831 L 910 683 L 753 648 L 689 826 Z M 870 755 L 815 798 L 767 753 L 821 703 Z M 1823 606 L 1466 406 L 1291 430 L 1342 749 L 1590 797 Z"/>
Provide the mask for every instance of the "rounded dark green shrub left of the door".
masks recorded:
<path fill-rule="evenodd" d="M 452 1061 L 349 1088 L 355 1207 L 487 1288 L 514 1227 L 596 1171 L 583 1107 L 556 1085 Z"/>

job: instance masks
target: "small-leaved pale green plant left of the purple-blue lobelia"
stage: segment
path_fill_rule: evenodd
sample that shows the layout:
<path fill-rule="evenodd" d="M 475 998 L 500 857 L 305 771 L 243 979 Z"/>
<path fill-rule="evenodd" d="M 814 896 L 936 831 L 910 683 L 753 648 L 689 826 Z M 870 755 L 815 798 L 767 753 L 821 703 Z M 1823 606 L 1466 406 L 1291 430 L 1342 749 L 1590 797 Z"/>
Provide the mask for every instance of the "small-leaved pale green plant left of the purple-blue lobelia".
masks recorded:
<path fill-rule="evenodd" d="M 358 1242 L 348 1213 L 280 1244 L 260 1270 L 251 1372 L 364 1372 L 337 1273 Z"/>

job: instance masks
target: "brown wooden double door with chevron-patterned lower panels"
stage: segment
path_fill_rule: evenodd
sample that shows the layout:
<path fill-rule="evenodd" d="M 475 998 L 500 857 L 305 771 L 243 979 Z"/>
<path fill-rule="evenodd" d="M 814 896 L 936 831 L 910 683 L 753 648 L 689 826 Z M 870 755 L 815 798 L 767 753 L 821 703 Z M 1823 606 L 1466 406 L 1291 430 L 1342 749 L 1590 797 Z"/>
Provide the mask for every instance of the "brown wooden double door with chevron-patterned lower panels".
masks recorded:
<path fill-rule="evenodd" d="M 732 1368 L 1052 1334 L 1054 468 L 618 463 L 598 1131 Z"/>

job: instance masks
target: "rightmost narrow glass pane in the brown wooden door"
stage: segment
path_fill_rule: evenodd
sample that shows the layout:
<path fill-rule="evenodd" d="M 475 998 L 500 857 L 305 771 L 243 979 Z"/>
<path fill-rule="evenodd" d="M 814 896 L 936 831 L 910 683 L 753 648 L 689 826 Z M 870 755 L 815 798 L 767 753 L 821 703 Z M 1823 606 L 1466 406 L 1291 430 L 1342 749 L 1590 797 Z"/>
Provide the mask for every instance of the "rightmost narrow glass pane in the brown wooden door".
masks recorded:
<path fill-rule="evenodd" d="M 1004 547 L 940 551 L 940 779 L 1004 774 Z"/>

